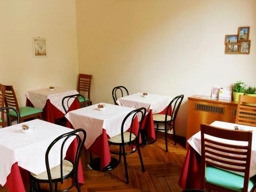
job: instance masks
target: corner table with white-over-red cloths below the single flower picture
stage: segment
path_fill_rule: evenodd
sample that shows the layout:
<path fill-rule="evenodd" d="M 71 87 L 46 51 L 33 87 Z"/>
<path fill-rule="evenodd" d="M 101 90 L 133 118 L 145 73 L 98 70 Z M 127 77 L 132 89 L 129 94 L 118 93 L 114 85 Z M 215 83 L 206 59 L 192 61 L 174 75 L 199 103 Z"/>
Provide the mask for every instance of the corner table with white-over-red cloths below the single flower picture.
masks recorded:
<path fill-rule="evenodd" d="M 43 111 L 42 117 L 48 122 L 55 123 L 55 119 L 66 115 L 62 106 L 63 97 L 75 94 L 78 94 L 76 90 L 60 87 L 31 90 L 26 93 L 26 106 L 41 109 Z M 75 110 L 80 108 L 79 101 L 75 98 L 69 100 L 69 107 L 67 102 L 64 104 L 66 109 Z"/>

